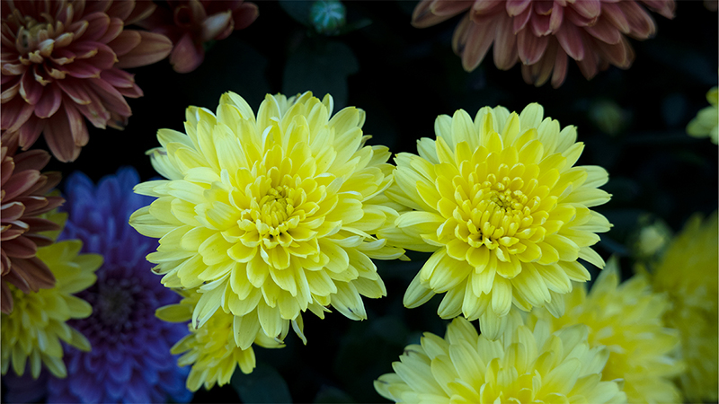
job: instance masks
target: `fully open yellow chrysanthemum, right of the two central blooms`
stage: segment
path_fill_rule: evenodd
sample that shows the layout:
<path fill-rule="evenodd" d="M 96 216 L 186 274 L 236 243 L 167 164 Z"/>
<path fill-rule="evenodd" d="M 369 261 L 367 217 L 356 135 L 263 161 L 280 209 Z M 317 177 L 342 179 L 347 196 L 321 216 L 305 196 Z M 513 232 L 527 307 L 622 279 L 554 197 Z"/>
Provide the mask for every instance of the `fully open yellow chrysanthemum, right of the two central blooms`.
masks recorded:
<path fill-rule="evenodd" d="M 437 140 L 422 138 L 419 155 L 396 156 L 386 195 L 413 211 L 379 236 L 434 252 L 404 294 L 407 307 L 446 292 L 440 317 L 479 319 L 497 338 L 512 303 L 561 315 L 561 294 L 590 279 L 578 258 L 604 267 L 590 246 L 611 224 L 590 207 L 609 200 L 597 189 L 608 173 L 574 167 L 584 148 L 576 128 L 543 116 L 538 104 L 519 115 L 485 107 L 474 122 L 457 110 L 439 116 Z"/>

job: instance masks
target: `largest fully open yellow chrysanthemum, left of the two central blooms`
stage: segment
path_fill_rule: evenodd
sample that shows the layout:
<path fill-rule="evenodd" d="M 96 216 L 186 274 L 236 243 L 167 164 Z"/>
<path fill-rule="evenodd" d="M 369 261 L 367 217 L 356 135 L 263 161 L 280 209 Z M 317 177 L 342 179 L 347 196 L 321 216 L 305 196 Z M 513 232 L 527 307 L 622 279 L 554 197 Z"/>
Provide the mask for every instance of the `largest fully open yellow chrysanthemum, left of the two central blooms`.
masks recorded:
<path fill-rule="evenodd" d="M 397 216 L 382 195 L 392 182 L 390 154 L 364 145 L 363 110 L 330 118 L 332 110 L 329 94 L 268 94 L 255 117 L 227 92 L 217 116 L 187 110 L 186 135 L 158 131 L 163 146 L 149 153 L 169 180 L 136 187 L 157 199 L 130 224 L 161 238 L 147 259 L 164 285 L 199 288 L 196 328 L 219 307 L 235 316 L 256 311 L 275 338 L 307 309 L 324 317 L 332 305 L 362 320 L 361 295 L 386 294 L 370 258 L 404 252 L 372 236 Z"/>

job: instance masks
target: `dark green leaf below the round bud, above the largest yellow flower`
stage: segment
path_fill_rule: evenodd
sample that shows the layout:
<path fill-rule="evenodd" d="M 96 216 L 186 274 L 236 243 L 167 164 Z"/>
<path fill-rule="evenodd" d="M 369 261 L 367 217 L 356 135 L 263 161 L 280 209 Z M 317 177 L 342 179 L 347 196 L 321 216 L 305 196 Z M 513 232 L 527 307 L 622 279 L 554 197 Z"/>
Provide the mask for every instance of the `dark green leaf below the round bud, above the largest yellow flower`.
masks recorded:
<path fill-rule="evenodd" d="M 342 42 L 305 40 L 289 57 L 282 92 L 293 95 L 311 91 L 317 98 L 330 93 L 334 110 L 347 105 L 347 76 L 359 70 L 357 57 Z"/>

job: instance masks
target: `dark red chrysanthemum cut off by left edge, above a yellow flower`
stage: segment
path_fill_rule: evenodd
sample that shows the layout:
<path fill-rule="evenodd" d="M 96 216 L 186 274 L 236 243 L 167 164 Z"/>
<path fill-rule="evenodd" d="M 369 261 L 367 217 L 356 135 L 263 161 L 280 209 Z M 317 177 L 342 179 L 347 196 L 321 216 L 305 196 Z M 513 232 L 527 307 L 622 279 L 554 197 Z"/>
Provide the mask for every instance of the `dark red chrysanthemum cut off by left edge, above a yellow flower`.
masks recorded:
<path fill-rule="evenodd" d="M 15 154 L 17 139 L 4 134 L 0 147 L 2 191 L 0 191 L 0 309 L 13 311 L 13 294 L 6 282 L 24 293 L 55 285 L 55 277 L 37 257 L 38 247 L 52 244 L 40 232 L 59 230 L 58 224 L 38 217 L 60 206 L 65 199 L 46 194 L 60 182 L 59 172 L 40 173 L 50 160 L 44 150 Z"/>

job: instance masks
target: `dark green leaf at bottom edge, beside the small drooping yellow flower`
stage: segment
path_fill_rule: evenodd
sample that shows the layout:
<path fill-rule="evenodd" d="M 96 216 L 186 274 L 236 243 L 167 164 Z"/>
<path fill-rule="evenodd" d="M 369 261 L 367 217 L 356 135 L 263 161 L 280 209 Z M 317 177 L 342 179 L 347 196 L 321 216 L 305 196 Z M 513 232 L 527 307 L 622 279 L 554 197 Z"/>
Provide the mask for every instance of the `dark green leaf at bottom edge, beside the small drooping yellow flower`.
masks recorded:
<path fill-rule="evenodd" d="M 240 400 L 247 403 L 292 402 L 287 382 L 273 367 L 257 364 L 253 373 L 235 372 L 230 384 L 237 391 Z"/>

